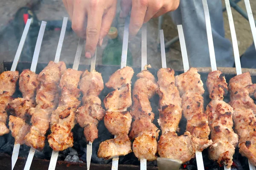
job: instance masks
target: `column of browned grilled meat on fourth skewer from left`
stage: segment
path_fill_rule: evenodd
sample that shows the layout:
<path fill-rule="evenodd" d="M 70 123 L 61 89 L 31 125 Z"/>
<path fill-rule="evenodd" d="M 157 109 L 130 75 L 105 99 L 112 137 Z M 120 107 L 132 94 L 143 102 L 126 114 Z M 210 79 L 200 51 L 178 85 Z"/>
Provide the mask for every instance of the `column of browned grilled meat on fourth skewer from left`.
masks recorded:
<path fill-rule="evenodd" d="M 55 151 L 62 151 L 73 147 L 73 133 L 75 126 L 76 109 L 80 105 L 79 92 L 77 88 L 82 72 L 71 68 L 64 71 L 61 76 L 59 87 L 61 98 L 59 105 L 51 115 L 51 134 L 47 139 L 49 146 Z"/>

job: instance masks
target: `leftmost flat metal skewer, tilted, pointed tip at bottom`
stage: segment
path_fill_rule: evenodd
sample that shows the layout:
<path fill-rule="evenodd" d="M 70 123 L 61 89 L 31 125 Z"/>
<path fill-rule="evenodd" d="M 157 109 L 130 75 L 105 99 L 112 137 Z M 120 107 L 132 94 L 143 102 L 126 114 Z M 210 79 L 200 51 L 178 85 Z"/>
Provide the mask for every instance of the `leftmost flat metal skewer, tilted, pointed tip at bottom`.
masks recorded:
<path fill-rule="evenodd" d="M 18 61 L 20 59 L 20 54 L 21 54 L 24 42 L 26 40 L 26 36 L 28 34 L 30 24 L 31 24 L 31 19 L 28 19 L 27 22 L 26 22 L 26 26 L 23 30 L 23 34 L 21 36 L 20 43 L 19 43 L 19 46 L 17 48 L 15 57 L 14 57 L 13 62 L 12 62 L 11 71 L 15 71 L 16 68 L 17 68 L 17 64 L 18 64 Z M 12 151 L 12 170 L 13 170 L 13 168 L 16 164 L 16 161 L 18 159 L 19 150 L 20 150 L 20 144 L 14 144 L 13 151 Z"/>

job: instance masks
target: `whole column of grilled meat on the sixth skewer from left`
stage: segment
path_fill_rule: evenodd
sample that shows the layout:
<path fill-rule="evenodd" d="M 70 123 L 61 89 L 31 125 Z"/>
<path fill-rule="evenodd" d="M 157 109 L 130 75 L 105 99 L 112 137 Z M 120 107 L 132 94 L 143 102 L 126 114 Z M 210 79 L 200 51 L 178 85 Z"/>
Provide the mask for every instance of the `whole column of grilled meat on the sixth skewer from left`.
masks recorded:
<path fill-rule="evenodd" d="M 116 135 L 99 144 L 99 158 L 111 159 L 113 156 L 124 156 L 131 153 L 131 141 L 128 137 L 131 128 L 131 114 L 127 108 L 131 106 L 131 78 L 134 71 L 124 67 L 111 75 L 106 86 L 115 90 L 104 99 L 106 115 L 104 124 L 108 131 Z"/>

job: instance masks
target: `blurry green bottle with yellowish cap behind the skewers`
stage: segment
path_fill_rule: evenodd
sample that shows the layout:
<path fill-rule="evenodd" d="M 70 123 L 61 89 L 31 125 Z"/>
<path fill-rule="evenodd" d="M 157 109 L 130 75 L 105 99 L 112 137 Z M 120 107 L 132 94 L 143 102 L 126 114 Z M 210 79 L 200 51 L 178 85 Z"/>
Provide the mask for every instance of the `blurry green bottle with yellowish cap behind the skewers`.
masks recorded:
<path fill-rule="evenodd" d="M 120 65 L 122 56 L 122 40 L 118 36 L 116 27 L 111 27 L 108 32 L 108 45 L 105 47 L 102 56 L 103 65 Z M 133 65 L 131 51 L 127 51 L 127 64 Z"/>

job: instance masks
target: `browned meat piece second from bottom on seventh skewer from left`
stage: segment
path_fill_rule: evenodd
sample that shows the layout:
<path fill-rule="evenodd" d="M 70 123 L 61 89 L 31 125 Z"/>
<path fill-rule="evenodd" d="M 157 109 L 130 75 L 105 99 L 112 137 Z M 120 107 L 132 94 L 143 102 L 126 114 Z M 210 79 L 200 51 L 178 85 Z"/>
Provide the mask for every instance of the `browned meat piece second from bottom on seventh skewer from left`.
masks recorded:
<path fill-rule="evenodd" d="M 149 136 L 154 136 L 158 139 L 159 130 L 150 120 L 145 117 L 135 120 L 132 123 L 131 132 L 129 137 L 131 139 L 137 138 L 142 134 L 147 134 Z"/>

